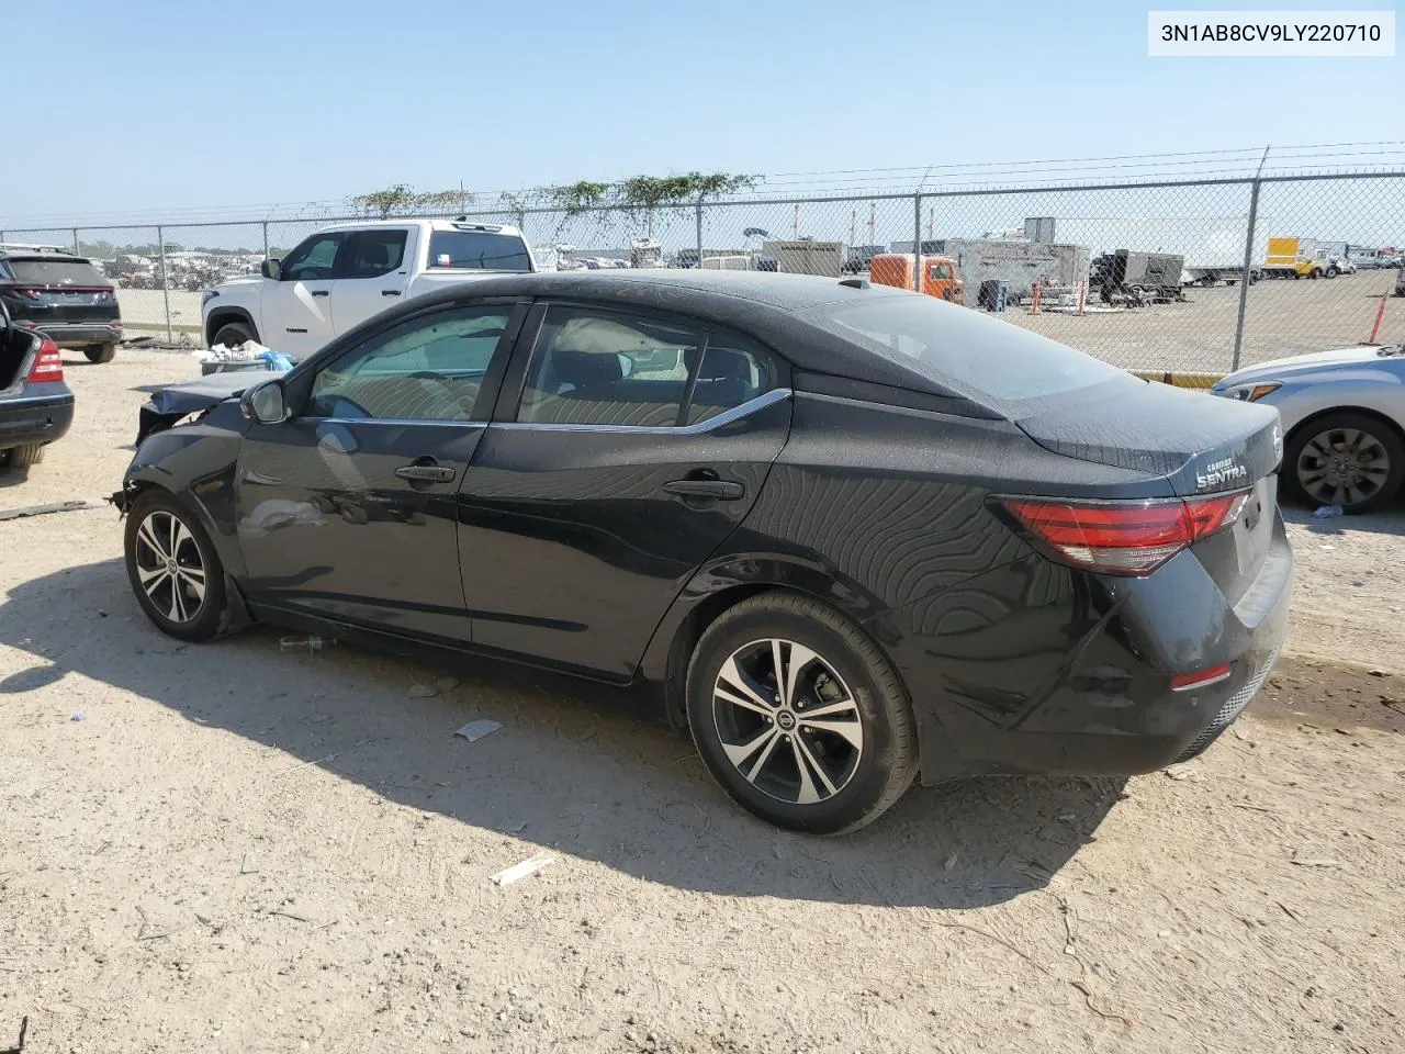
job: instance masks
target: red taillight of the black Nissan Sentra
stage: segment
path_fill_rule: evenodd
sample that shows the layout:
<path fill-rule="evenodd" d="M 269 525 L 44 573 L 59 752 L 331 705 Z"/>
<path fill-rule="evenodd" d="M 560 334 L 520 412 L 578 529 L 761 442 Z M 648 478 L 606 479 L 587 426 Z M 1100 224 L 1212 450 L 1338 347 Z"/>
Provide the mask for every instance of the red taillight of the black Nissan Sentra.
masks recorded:
<path fill-rule="evenodd" d="M 1232 526 L 1249 492 L 1146 502 L 995 500 L 1065 564 L 1104 575 L 1149 575 L 1187 545 Z"/>

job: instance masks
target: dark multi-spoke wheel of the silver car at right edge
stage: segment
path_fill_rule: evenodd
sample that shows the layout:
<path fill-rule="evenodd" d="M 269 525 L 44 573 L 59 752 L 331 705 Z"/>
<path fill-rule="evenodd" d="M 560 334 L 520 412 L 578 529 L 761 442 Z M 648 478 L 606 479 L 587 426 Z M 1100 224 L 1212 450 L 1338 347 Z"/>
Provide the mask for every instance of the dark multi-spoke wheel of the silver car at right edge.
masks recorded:
<path fill-rule="evenodd" d="M 1377 417 L 1329 413 L 1288 438 L 1283 468 L 1288 488 L 1312 505 L 1364 513 L 1399 493 L 1405 444 Z"/>

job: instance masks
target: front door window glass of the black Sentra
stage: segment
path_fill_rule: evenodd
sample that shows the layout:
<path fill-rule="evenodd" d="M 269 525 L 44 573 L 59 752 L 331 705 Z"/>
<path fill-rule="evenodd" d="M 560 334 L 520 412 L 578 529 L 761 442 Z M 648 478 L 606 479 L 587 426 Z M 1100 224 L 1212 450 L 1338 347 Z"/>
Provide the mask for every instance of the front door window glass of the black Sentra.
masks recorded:
<path fill-rule="evenodd" d="M 318 374 L 308 416 L 481 420 L 478 396 L 509 313 L 504 305 L 447 311 L 372 337 Z"/>

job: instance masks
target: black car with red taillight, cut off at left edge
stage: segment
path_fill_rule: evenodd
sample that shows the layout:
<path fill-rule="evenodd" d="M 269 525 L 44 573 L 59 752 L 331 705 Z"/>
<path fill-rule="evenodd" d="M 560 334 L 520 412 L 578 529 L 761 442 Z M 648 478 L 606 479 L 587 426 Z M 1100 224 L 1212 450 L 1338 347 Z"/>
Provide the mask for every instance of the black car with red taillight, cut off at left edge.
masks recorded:
<path fill-rule="evenodd" d="M 28 468 L 73 423 L 73 392 L 49 337 L 13 325 L 0 302 L 0 464 Z"/>

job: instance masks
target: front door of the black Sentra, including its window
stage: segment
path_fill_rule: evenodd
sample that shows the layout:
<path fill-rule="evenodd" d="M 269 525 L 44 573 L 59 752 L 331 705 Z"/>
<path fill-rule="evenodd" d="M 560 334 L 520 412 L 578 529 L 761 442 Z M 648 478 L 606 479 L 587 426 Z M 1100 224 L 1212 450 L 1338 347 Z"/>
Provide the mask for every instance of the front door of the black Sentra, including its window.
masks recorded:
<path fill-rule="evenodd" d="M 292 419 L 249 430 L 236 485 L 251 604 L 472 638 L 455 493 L 514 315 L 482 304 L 405 319 L 298 378 Z"/>

